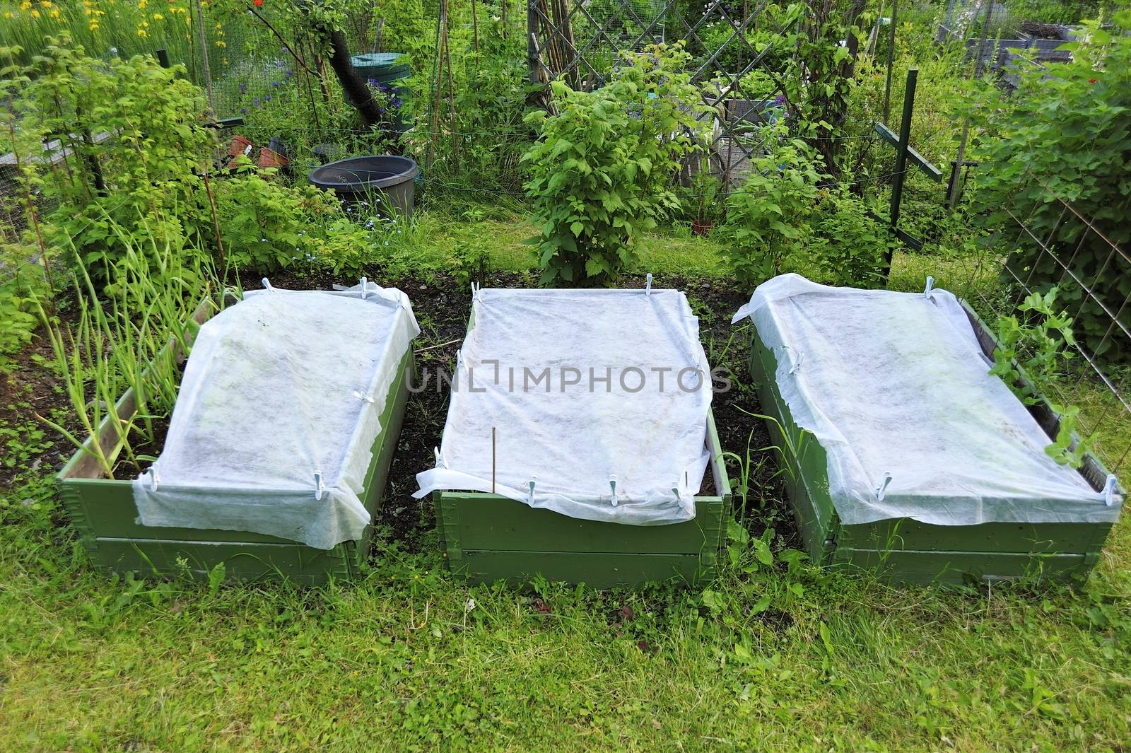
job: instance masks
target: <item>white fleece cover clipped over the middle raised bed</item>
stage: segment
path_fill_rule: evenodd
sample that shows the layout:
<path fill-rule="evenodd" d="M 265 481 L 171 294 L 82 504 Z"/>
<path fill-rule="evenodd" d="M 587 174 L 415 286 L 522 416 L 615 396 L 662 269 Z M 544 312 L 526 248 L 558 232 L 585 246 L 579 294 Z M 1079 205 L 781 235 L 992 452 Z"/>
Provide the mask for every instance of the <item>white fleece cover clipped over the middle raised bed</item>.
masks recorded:
<path fill-rule="evenodd" d="M 415 496 L 493 486 L 586 520 L 694 518 L 711 381 L 683 293 L 483 288 L 473 317 Z"/>

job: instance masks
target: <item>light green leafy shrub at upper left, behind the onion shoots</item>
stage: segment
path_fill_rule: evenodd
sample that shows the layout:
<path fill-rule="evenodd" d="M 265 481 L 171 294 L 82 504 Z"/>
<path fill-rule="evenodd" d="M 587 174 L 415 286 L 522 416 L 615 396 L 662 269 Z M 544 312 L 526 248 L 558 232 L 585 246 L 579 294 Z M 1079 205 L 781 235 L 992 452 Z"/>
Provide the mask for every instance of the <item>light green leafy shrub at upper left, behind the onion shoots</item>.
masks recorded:
<path fill-rule="evenodd" d="M 5 130 L 23 158 L 20 178 L 58 207 L 40 226 L 48 248 L 72 250 L 72 262 L 103 277 L 121 253 L 115 228 L 163 244 L 180 234 L 181 217 L 200 210 L 215 135 L 200 90 L 178 69 L 141 55 L 87 58 L 64 36 L 2 79 L 0 95 L 12 105 L 0 116 L 18 122 Z M 68 157 L 43 170 L 43 145 L 54 139 Z"/>

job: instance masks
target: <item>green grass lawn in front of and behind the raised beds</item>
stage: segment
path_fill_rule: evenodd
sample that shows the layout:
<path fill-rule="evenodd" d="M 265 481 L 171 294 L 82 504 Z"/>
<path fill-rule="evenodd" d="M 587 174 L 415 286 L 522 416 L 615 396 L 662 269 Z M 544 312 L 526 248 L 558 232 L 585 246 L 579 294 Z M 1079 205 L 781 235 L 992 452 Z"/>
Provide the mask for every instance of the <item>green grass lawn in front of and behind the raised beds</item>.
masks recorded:
<path fill-rule="evenodd" d="M 442 260 L 447 224 L 418 232 Z M 529 268 L 519 218 L 458 233 Z M 641 257 L 720 274 L 683 234 Z M 935 261 L 897 258 L 893 286 L 962 274 Z M 41 451 L 33 422 L 5 429 Z M 450 578 L 431 537 L 301 590 L 95 574 L 52 470 L 0 499 L 3 751 L 1131 750 L 1126 516 L 1077 590 L 895 588 L 735 545 L 707 590 L 520 591 Z"/>

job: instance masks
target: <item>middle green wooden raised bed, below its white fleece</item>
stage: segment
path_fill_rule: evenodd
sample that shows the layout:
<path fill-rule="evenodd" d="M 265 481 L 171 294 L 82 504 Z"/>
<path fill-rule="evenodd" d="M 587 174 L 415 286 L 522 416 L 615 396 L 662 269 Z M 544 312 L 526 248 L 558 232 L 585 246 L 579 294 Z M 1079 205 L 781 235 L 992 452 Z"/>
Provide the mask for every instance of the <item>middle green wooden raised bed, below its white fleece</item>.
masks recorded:
<path fill-rule="evenodd" d="M 671 526 L 625 526 L 570 518 L 481 492 L 433 492 L 437 529 L 451 571 L 472 582 L 512 583 L 541 575 L 593 588 L 633 588 L 715 578 L 731 508 L 731 485 L 715 419 L 707 418 L 716 494 L 696 496 L 696 517 Z"/>

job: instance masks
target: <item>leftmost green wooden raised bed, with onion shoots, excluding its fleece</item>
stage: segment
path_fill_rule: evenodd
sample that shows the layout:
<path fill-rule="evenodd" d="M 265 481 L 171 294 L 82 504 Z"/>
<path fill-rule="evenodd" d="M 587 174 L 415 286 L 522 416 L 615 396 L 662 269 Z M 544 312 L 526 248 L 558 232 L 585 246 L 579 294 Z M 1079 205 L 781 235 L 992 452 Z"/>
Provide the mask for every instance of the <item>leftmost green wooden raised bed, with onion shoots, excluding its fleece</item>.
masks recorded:
<path fill-rule="evenodd" d="M 204 311 L 198 312 L 198 321 L 207 318 Z M 365 476 L 362 502 L 371 514 L 381 509 L 414 369 L 409 348 L 389 388 L 380 419 L 382 430 L 373 443 L 373 459 Z M 119 400 L 119 415 L 131 416 L 133 403 L 130 390 Z M 100 426 L 98 439 L 105 448 L 114 443 L 109 419 Z M 94 441 L 94 438 L 87 439 L 88 443 Z M 201 579 L 223 562 L 228 578 L 247 581 L 287 579 L 317 586 L 331 578 L 345 579 L 361 572 L 372 536 L 372 526 L 366 526 L 359 540 L 343 542 L 331 549 L 317 549 L 248 531 L 143 526 L 138 521 L 131 482 L 105 478 L 94 458 L 81 450 L 59 471 L 57 483 L 79 542 L 95 568 L 104 572 L 188 574 Z"/>

